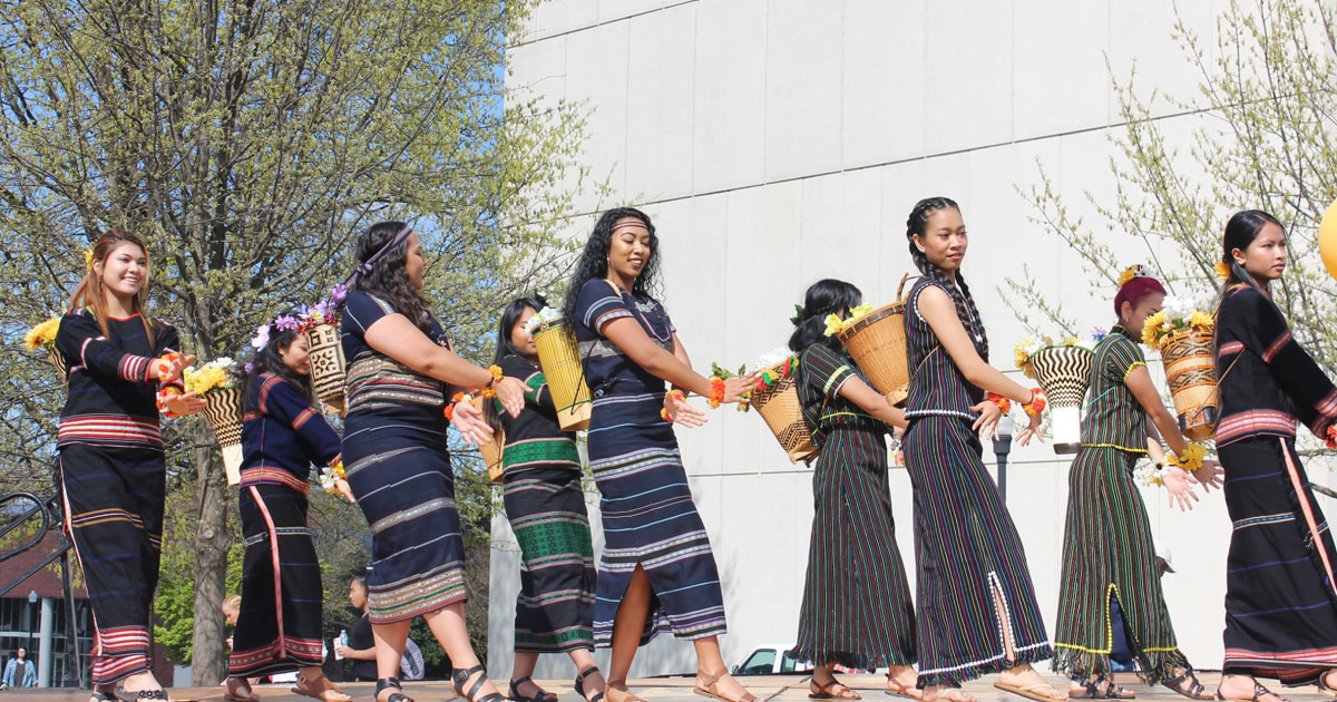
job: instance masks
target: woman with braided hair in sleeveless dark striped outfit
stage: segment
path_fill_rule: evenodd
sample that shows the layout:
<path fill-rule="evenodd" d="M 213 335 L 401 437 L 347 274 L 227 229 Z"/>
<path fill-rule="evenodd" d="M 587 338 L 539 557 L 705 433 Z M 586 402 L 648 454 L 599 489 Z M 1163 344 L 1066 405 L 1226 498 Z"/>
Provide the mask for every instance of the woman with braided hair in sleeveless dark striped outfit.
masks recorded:
<path fill-rule="evenodd" d="M 920 687 L 925 699 L 973 699 L 960 683 L 1000 671 L 995 687 L 1040 702 L 1067 699 L 1031 667 L 1054 655 L 1021 539 L 981 460 L 997 402 L 1024 402 L 1036 435 L 1043 394 L 988 364 L 979 310 L 960 274 L 967 234 L 948 198 L 920 201 L 906 223 L 910 255 L 924 273 L 905 310 L 910 390 L 905 467 L 915 485 L 919 556 Z"/>

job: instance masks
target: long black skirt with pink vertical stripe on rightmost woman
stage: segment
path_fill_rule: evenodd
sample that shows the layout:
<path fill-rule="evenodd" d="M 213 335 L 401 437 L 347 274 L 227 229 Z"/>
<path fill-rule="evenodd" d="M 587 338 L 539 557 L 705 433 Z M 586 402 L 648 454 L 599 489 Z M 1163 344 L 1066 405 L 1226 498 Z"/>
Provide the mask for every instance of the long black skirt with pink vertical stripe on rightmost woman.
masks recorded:
<path fill-rule="evenodd" d="M 1234 524 L 1226 556 L 1227 673 L 1313 682 L 1337 667 L 1337 550 L 1293 439 L 1219 447 Z"/>

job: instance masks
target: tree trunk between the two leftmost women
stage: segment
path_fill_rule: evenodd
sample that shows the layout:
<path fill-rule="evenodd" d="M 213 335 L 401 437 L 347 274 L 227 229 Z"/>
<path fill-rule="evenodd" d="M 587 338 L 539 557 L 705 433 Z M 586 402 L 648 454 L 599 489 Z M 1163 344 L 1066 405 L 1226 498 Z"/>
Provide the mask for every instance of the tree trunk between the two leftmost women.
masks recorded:
<path fill-rule="evenodd" d="M 191 683 L 210 686 L 227 675 L 225 658 L 223 598 L 226 596 L 227 550 L 227 479 L 223 464 L 213 449 L 211 429 L 201 421 L 195 451 L 199 523 L 195 532 L 195 627 L 191 647 Z"/>

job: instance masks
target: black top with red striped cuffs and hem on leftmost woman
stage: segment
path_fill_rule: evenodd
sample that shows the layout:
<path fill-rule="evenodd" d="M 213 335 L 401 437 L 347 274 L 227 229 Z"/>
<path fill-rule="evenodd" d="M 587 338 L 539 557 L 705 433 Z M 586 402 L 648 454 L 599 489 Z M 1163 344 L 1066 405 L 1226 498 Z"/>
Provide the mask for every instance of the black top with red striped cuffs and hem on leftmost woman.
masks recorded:
<path fill-rule="evenodd" d="M 148 378 L 148 366 L 179 348 L 176 329 L 154 321 L 148 342 L 143 318 L 107 318 L 107 334 L 98 318 L 76 309 L 60 318 L 56 350 L 64 357 L 68 398 L 60 411 L 56 445 L 162 448 L 156 394 L 160 384 Z M 172 385 L 182 386 L 180 378 Z"/>

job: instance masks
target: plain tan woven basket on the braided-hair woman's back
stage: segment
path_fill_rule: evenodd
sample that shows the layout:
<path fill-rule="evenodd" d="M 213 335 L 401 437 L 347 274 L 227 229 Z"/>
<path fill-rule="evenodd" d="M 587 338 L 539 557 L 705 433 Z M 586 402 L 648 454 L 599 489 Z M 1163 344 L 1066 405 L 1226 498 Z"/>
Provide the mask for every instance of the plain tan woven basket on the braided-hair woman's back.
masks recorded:
<path fill-rule="evenodd" d="M 896 302 L 860 317 L 849 329 L 837 334 L 877 392 L 897 406 L 905 404 L 910 389 L 905 350 L 905 298 L 901 297 L 908 279 L 909 275 L 901 277 Z"/>

